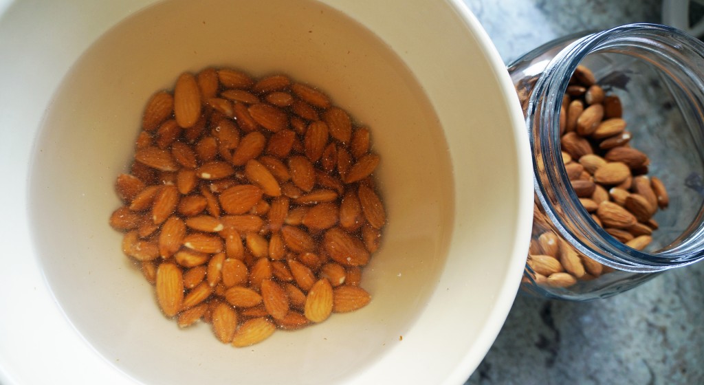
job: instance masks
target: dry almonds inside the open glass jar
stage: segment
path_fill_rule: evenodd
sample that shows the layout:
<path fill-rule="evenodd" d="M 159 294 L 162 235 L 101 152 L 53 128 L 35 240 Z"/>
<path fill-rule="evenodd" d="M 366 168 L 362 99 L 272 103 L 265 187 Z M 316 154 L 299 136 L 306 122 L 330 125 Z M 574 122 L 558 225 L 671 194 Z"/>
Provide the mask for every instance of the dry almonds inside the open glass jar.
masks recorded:
<path fill-rule="evenodd" d="M 667 208 L 667 191 L 658 177 L 648 177 L 648 156 L 630 146 L 618 96 L 606 94 L 582 65 L 562 99 L 560 135 L 565 171 L 593 220 L 631 248 L 648 246 L 658 229 L 653 215 Z M 567 287 L 612 271 L 572 248 L 549 223 L 536 204 L 528 255 L 534 282 Z"/>

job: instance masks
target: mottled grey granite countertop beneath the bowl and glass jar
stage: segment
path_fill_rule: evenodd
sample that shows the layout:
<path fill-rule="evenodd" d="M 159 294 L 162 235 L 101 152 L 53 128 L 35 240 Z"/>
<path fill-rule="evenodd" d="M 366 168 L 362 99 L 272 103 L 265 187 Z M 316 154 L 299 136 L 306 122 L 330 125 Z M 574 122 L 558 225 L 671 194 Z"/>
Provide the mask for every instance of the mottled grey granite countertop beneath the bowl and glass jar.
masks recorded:
<path fill-rule="evenodd" d="M 556 37 L 662 23 L 660 0 L 464 0 L 505 63 Z M 704 263 L 612 298 L 519 294 L 465 385 L 704 384 Z"/>

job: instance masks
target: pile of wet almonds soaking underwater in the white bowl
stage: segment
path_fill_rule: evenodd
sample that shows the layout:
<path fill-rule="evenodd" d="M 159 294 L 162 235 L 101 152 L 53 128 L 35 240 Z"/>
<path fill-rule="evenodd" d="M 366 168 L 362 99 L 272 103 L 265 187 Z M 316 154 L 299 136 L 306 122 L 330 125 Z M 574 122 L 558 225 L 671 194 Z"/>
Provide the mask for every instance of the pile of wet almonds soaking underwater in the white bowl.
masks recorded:
<path fill-rule="evenodd" d="M 180 327 L 233 346 L 362 308 L 386 213 L 370 131 L 285 75 L 183 73 L 146 105 L 110 217 Z"/>

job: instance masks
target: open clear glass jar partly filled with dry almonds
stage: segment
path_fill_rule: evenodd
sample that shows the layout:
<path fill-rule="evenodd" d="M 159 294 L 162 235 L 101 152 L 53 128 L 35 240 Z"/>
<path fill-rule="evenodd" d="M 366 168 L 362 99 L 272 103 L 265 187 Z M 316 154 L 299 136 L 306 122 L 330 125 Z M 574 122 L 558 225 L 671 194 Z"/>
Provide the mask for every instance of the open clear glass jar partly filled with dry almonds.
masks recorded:
<path fill-rule="evenodd" d="M 558 39 L 508 70 L 532 146 L 522 288 L 586 301 L 704 258 L 704 44 L 652 24 Z"/>

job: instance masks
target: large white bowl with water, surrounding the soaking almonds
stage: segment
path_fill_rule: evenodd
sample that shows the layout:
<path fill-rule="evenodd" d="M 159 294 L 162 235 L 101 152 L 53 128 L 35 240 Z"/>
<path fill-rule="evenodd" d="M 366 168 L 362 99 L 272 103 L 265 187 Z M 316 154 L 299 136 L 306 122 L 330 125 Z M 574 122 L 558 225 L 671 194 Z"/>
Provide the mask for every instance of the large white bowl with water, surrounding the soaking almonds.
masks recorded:
<path fill-rule="evenodd" d="M 154 3 L 154 4 L 151 4 Z M 0 382 L 461 384 L 513 303 L 527 134 L 459 1 L 0 3 Z M 257 346 L 180 330 L 107 218 L 144 103 L 184 70 L 286 72 L 372 130 L 388 210 L 370 305 Z"/>

